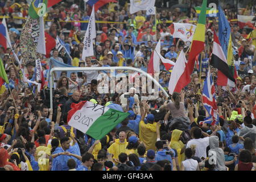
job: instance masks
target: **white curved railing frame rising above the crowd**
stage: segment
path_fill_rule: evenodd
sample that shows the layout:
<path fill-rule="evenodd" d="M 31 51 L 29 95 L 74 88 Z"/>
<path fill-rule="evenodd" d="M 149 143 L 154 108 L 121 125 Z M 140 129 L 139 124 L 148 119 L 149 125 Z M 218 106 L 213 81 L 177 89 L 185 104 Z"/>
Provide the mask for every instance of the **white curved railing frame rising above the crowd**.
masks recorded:
<path fill-rule="evenodd" d="M 53 93 L 52 93 L 52 88 L 53 88 L 53 72 L 55 71 L 106 71 L 106 70 L 110 70 L 110 71 L 115 71 L 115 70 L 131 70 L 131 71 L 135 71 L 135 72 L 139 72 L 142 75 L 146 75 L 147 78 L 150 79 L 150 81 L 153 81 L 154 84 L 156 84 L 156 86 L 158 86 L 158 88 L 160 88 L 164 95 L 166 97 L 169 97 L 168 93 L 166 92 L 166 90 L 163 89 L 163 87 L 159 84 L 158 81 L 155 80 L 155 78 L 153 78 L 150 74 L 142 71 L 139 68 L 133 68 L 133 67 L 73 67 L 73 68 L 63 68 L 63 67 L 55 67 L 52 68 L 50 71 L 50 78 L 49 78 L 49 87 L 50 87 L 50 106 L 51 109 L 53 109 Z"/>

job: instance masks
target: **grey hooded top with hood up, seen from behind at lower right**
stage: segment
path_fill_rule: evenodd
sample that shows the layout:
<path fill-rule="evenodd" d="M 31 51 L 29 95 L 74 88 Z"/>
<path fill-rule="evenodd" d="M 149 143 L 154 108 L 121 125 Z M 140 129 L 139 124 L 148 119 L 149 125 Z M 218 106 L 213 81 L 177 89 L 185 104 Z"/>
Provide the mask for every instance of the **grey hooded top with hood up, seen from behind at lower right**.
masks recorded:
<path fill-rule="evenodd" d="M 222 148 L 218 147 L 217 136 L 212 136 L 209 138 L 209 146 L 210 146 L 210 150 L 208 152 L 209 160 L 211 160 L 211 158 L 215 158 L 210 154 L 216 155 L 215 169 L 217 169 L 218 171 L 226 171 L 224 151 L 222 150 Z"/>

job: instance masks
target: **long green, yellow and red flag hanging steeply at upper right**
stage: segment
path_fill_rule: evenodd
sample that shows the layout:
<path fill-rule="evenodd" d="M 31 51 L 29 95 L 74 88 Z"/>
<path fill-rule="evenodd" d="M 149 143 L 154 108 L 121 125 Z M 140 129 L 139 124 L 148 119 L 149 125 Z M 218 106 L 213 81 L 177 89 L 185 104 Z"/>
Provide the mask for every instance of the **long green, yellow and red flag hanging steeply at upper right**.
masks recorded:
<path fill-rule="evenodd" d="M 180 88 L 188 85 L 191 81 L 191 74 L 195 66 L 196 56 L 204 50 L 204 41 L 205 41 L 205 22 L 206 22 L 206 10 L 207 10 L 207 0 L 203 0 L 201 6 L 201 13 L 199 20 L 197 22 L 196 31 L 193 35 L 191 48 L 189 51 L 189 57 L 187 63 L 185 63 L 185 69 L 183 74 L 179 79 Z"/>

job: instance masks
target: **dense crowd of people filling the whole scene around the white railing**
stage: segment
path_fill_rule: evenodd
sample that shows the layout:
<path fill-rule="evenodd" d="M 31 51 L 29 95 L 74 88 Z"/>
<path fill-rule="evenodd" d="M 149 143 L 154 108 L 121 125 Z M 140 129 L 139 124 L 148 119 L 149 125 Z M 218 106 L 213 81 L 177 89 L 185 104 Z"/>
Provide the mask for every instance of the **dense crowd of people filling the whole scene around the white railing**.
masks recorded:
<path fill-rule="evenodd" d="M 75 1 L 76 2 L 76 1 Z M 146 11 L 129 13 L 125 1 L 109 3 L 96 13 L 97 38 L 94 56 L 82 60 L 82 40 L 92 7 L 63 1 L 46 14 L 45 29 L 65 48 L 52 49 L 50 58 L 42 55 L 44 78 L 48 80 L 49 62 L 74 67 L 135 67 L 147 72 L 156 43 L 161 40 L 160 54 L 172 61 L 190 42 L 173 38 L 174 27 L 168 21 L 196 24 L 193 7 L 159 9 L 155 15 Z M 179 3 L 179 2 L 178 2 Z M 83 5 L 83 4 L 82 4 Z M 168 6 L 170 4 L 168 3 Z M 28 16 L 27 1 L 1 1 L 0 16 L 6 15 L 11 44 L 19 58 L 20 31 Z M 165 7 L 165 6 L 164 6 Z M 236 19 L 229 4 L 222 7 L 228 19 Z M 248 12 L 250 10 L 250 12 Z M 238 14 L 251 14 L 251 7 Z M 52 21 L 47 21 L 52 20 Z M 117 23 L 112 23 L 117 22 Z M 100 73 L 110 71 L 61 72 L 54 75 L 53 109 L 50 109 L 47 82 L 38 92 L 35 63 L 23 65 L 22 73 L 11 48 L 0 47 L 0 57 L 10 84 L 0 88 L 0 168 L 5 171 L 254 171 L 256 168 L 256 30 L 232 26 L 238 78 L 236 86 L 217 85 L 217 69 L 209 65 L 213 48 L 213 31 L 218 32 L 217 18 L 207 18 L 205 51 L 201 69 L 195 69 L 191 82 L 180 92 L 168 97 L 159 91 L 158 98 L 130 88 L 126 93 L 98 92 Z M 67 31 L 70 30 L 70 31 Z M 70 56 L 69 56 L 70 55 Z M 186 55 L 188 56 L 188 55 Z M 199 59 L 200 60 L 200 59 Z M 209 113 L 203 106 L 202 88 L 210 71 L 217 96 L 219 125 L 203 123 Z M 133 73 L 118 70 L 117 73 Z M 201 75 L 200 75 L 201 74 Z M 139 76 L 139 75 L 137 75 Z M 160 64 L 159 83 L 168 93 L 171 71 Z M 129 79 L 128 79 L 129 80 Z M 105 81 L 110 82 L 110 79 Z M 115 84 L 121 80 L 116 80 Z M 113 107 L 129 116 L 104 138 L 96 140 L 68 125 L 68 111 L 73 103 L 90 101 Z M 119 106 L 119 107 L 118 107 Z"/>

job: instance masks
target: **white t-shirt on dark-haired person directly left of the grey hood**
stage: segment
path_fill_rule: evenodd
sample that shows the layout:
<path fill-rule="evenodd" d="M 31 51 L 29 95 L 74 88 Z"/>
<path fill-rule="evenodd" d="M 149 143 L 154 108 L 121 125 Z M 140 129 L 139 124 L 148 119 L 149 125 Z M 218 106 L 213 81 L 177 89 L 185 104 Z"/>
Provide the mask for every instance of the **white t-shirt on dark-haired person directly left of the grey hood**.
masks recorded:
<path fill-rule="evenodd" d="M 189 140 L 187 143 L 186 148 L 190 148 L 192 144 L 196 145 L 196 154 L 195 156 L 201 158 L 207 158 L 207 151 L 206 148 L 209 146 L 209 137 L 199 138 L 199 139 L 192 139 Z"/>

